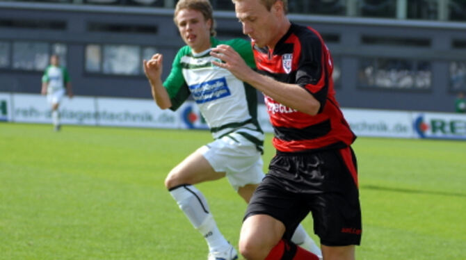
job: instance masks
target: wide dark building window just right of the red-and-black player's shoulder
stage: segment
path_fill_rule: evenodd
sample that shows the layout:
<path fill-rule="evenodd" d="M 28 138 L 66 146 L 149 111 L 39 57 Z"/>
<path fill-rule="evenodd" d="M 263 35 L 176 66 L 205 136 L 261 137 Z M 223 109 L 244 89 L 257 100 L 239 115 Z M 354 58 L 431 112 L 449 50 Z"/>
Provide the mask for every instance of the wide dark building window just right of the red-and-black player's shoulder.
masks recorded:
<path fill-rule="evenodd" d="M 401 90 L 431 88 L 431 63 L 427 61 L 362 58 L 358 74 L 362 87 Z"/>

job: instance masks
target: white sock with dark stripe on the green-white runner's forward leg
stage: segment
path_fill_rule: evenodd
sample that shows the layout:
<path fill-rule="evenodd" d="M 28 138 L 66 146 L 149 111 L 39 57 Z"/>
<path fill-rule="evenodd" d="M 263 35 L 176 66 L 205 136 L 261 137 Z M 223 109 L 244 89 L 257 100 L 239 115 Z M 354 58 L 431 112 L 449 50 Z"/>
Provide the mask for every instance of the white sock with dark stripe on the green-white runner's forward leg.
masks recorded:
<path fill-rule="evenodd" d="M 170 194 L 195 229 L 204 236 L 210 252 L 223 251 L 230 246 L 218 230 L 214 217 L 209 212 L 207 200 L 197 188 L 191 185 L 178 186 L 170 190 Z"/>

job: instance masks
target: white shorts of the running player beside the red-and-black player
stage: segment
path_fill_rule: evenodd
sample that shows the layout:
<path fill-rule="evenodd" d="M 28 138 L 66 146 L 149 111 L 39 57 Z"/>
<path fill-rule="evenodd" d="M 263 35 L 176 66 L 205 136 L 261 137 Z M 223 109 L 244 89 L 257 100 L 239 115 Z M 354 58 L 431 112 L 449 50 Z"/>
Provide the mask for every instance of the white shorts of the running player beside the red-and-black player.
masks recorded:
<path fill-rule="evenodd" d="M 265 177 L 262 156 L 256 146 L 239 133 L 230 133 L 198 149 L 216 172 L 226 172 L 234 190 L 246 184 L 259 184 Z"/>

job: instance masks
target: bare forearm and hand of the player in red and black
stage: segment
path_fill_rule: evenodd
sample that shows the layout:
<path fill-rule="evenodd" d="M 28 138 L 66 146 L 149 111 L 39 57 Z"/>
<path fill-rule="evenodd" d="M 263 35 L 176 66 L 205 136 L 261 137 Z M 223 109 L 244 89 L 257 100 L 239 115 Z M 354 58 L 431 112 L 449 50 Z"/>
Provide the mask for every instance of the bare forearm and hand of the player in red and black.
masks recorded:
<path fill-rule="evenodd" d="M 232 47 L 218 45 L 212 49 L 211 55 L 220 58 L 224 62 L 214 62 L 214 65 L 230 70 L 238 79 L 249 83 L 284 106 L 294 108 L 309 115 L 316 115 L 318 113 L 321 104 L 307 90 L 296 84 L 275 81 L 275 79 L 255 72 L 246 65 L 243 58 Z"/>

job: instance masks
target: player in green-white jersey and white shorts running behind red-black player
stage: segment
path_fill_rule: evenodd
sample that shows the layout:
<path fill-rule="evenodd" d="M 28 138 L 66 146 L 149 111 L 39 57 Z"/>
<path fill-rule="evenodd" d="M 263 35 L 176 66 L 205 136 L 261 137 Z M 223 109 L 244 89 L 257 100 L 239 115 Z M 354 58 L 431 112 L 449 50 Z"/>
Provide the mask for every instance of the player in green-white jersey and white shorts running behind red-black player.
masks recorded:
<path fill-rule="evenodd" d="M 179 49 L 168 79 L 162 83 L 163 56 L 144 60 L 144 71 L 152 96 L 162 108 L 175 111 L 189 95 L 199 106 L 214 141 L 200 147 L 173 168 L 165 186 L 180 209 L 209 245 L 209 260 L 237 259 L 236 250 L 220 233 L 204 195 L 194 187 L 204 181 L 227 177 L 243 200 L 249 202 L 262 181 L 264 133 L 257 122 L 256 90 L 211 62 L 212 47 L 227 44 L 255 67 L 250 43 L 243 39 L 214 38 L 214 18 L 207 0 L 181 0 L 174 21 L 186 46 Z M 296 244 L 321 255 L 319 247 L 298 226 L 292 238 Z"/>

